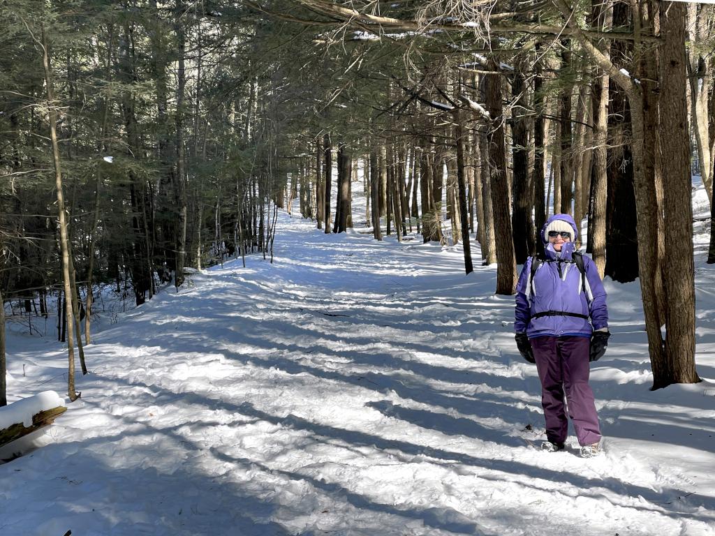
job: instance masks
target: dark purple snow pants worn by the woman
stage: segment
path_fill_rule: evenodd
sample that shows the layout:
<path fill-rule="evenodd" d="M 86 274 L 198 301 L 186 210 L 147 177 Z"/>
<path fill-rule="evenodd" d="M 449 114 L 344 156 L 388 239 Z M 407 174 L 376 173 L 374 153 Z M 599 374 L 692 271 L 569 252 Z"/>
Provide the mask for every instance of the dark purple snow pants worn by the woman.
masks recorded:
<path fill-rule="evenodd" d="M 587 337 L 536 337 L 531 347 L 536 358 L 536 369 L 541 379 L 541 405 L 546 417 L 546 437 L 563 443 L 568 435 L 568 416 L 576 428 L 578 444 L 591 445 L 601 440 L 598 414 L 593 402 L 593 391 L 588 384 Z"/>

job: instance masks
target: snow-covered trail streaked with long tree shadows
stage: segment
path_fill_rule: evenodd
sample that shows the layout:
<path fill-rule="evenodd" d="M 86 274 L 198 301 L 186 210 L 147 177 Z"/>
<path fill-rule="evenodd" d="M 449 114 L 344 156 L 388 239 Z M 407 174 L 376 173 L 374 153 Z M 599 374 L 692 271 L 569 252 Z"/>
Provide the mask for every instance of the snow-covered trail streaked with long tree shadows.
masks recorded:
<path fill-rule="evenodd" d="M 581 459 L 573 437 L 545 453 L 493 267 L 465 277 L 458 250 L 281 226 L 275 264 L 196 274 L 98 335 L 49 444 L 0 465 L 0 529 L 715 534 L 714 398 L 648 391 L 627 299 L 611 298 L 623 343 L 593 367 L 606 455 Z M 44 352 L 11 361 L 16 386 L 22 364 L 63 366 Z"/>

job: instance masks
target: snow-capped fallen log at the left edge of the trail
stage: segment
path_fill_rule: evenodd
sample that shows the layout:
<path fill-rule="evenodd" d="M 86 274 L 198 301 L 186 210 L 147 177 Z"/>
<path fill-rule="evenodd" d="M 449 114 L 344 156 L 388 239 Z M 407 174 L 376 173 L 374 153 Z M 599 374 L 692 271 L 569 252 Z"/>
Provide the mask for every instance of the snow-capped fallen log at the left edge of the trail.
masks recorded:
<path fill-rule="evenodd" d="M 0 447 L 51 425 L 66 410 L 64 399 L 54 391 L 44 391 L 0 407 Z"/>

